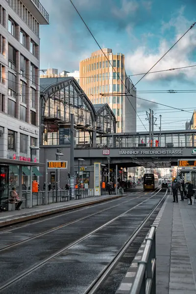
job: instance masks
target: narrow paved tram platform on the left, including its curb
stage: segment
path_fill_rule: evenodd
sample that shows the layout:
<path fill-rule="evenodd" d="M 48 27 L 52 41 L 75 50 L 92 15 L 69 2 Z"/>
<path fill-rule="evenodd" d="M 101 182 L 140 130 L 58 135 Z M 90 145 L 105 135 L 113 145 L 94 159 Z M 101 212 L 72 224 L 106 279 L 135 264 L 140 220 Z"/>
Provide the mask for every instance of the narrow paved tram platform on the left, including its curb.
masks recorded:
<path fill-rule="evenodd" d="M 124 195 L 124 194 L 123 194 Z M 32 208 L 24 208 L 15 211 L 6 211 L 0 213 L 0 227 L 19 223 L 22 221 L 28 221 L 37 219 L 40 217 L 48 216 L 51 214 L 71 210 L 115 198 L 122 197 L 123 195 L 105 195 L 105 196 L 94 196 L 89 198 L 83 198 L 79 200 L 69 200 L 66 202 L 52 203 L 49 205 L 34 206 Z"/>

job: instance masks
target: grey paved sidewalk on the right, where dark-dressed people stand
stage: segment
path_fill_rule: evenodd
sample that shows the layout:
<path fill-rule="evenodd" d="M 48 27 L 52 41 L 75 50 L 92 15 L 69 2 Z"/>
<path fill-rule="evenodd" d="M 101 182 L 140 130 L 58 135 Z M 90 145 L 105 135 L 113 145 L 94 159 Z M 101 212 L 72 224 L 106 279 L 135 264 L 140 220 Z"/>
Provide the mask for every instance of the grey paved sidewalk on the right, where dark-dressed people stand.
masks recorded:
<path fill-rule="evenodd" d="M 156 293 L 196 294 L 196 203 L 172 200 L 156 232 Z"/>

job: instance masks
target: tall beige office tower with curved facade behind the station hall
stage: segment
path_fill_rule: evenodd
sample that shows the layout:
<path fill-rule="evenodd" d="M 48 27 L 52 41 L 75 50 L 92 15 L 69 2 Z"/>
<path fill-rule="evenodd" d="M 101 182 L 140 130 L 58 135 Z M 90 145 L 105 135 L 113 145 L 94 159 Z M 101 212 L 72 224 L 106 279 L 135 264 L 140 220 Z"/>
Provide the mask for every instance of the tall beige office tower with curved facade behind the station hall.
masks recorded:
<path fill-rule="evenodd" d="M 102 50 L 106 56 L 98 50 L 80 62 L 80 86 L 93 104 L 108 103 L 116 115 L 118 133 L 135 132 L 136 88 L 126 75 L 124 54 Z"/>

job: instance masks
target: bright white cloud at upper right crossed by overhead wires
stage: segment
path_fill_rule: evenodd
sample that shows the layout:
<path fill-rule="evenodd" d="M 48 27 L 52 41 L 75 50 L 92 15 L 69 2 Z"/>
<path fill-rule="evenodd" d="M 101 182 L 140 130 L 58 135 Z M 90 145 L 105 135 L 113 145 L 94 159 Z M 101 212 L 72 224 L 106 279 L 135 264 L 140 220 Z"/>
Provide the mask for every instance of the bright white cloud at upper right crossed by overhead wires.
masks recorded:
<path fill-rule="evenodd" d="M 172 18 L 168 24 L 162 25 L 162 31 L 165 32 L 163 38 L 154 53 L 154 48 L 147 46 L 139 46 L 132 54 L 126 56 L 126 69 L 133 74 L 146 73 L 155 64 L 162 55 L 183 35 L 183 33 L 192 25 L 183 16 L 183 9 L 179 12 L 176 18 Z M 172 40 L 167 40 L 167 29 L 173 28 L 175 36 Z M 192 60 L 194 51 L 196 50 L 196 27 L 192 28 L 169 53 L 151 70 L 159 71 L 171 68 L 185 67 L 193 65 L 196 62 Z M 196 74 L 196 68 L 175 70 L 162 73 L 147 74 L 146 80 L 158 80 L 169 77 L 181 77 L 185 79 L 193 78 Z"/>

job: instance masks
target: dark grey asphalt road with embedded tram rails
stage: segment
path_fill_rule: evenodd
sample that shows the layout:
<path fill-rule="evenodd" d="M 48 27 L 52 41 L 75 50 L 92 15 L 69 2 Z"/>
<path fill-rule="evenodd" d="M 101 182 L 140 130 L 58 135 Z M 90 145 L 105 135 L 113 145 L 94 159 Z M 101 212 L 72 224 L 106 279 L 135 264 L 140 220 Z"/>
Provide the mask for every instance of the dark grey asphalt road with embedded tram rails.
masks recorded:
<path fill-rule="evenodd" d="M 155 194 L 127 194 L 0 232 L 0 248 L 21 242 L 0 250 L 0 287 L 50 258 L 0 293 L 84 293 L 164 196 L 163 192 Z M 80 238 L 83 240 L 76 243 Z M 65 248 L 64 252 L 51 258 L 52 254 Z"/>

